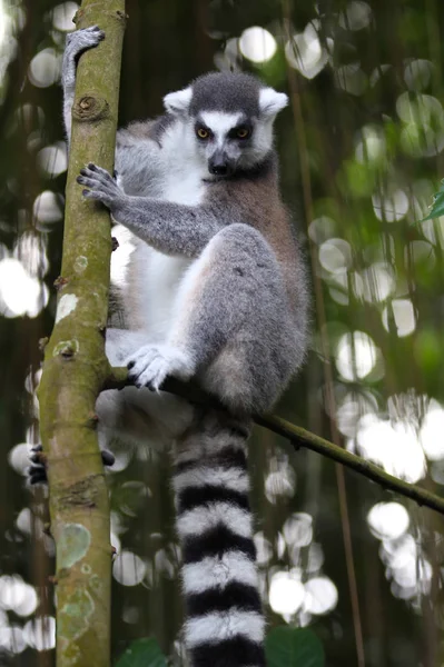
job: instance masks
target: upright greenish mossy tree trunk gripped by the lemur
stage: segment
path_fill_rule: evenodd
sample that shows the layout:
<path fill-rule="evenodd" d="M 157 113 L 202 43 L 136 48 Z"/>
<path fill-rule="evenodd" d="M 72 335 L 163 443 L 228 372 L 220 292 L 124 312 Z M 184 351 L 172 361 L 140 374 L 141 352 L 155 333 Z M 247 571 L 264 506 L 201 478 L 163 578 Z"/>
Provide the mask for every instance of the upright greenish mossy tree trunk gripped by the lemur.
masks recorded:
<path fill-rule="evenodd" d="M 125 19 L 125 0 L 83 0 L 76 21 L 100 26 L 106 39 L 78 67 L 57 318 L 39 387 L 57 549 L 57 667 L 110 664 L 109 500 L 95 404 L 110 372 L 111 236 L 108 211 L 82 199 L 76 177 L 90 161 L 112 170 Z"/>

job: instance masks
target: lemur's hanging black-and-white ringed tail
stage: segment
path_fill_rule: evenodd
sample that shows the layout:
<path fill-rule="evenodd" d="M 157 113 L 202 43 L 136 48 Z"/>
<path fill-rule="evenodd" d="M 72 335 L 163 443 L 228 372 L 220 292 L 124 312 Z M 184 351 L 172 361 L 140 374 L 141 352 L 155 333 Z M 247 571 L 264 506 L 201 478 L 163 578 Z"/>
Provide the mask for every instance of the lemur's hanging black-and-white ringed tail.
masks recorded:
<path fill-rule="evenodd" d="M 193 667 L 264 667 L 265 620 L 248 504 L 246 439 L 204 417 L 180 444 L 174 488 Z"/>

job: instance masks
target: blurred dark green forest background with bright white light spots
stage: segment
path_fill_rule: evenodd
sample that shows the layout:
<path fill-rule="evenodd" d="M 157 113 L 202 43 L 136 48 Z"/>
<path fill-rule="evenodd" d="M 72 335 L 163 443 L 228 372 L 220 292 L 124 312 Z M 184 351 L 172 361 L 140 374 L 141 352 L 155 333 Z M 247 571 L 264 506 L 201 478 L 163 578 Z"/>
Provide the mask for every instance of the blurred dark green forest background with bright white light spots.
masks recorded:
<path fill-rule="evenodd" d="M 60 268 L 58 84 L 78 6 L 0 0 L 0 665 L 53 665 L 46 492 L 24 485 Z M 282 187 L 313 275 L 308 362 L 277 411 L 444 490 L 440 0 L 128 0 L 120 123 L 211 70 L 288 92 Z M 181 664 L 169 460 L 116 444 L 114 655 L 155 635 Z M 444 664 L 444 519 L 257 429 L 256 544 L 270 627 L 312 627 L 332 667 Z"/>

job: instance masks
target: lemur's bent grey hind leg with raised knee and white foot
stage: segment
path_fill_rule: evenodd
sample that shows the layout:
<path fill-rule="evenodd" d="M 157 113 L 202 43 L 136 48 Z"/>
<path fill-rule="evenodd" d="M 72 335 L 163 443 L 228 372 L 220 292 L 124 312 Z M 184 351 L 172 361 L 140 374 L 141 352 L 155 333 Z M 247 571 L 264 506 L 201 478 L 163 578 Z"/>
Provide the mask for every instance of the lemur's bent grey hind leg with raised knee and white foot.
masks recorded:
<path fill-rule="evenodd" d="M 246 225 L 219 231 L 185 276 L 165 345 L 129 355 L 130 378 L 159 389 L 168 375 L 203 385 L 237 410 L 269 407 L 290 372 L 294 335 L 274 252 Z"/>

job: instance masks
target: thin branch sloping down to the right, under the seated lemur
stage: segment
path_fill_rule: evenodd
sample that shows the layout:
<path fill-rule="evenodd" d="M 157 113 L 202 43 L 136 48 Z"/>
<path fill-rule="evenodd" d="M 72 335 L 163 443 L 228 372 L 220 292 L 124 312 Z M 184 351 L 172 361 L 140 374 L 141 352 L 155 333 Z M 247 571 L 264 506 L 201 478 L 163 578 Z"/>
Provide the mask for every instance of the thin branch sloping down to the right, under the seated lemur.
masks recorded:
<path fill-rule="evenodd" d="M 112 374 L 112 379 L 107 381 L 105 389 L 122 389 L 128 385 L 126 368 L 114 368 Z M 175 394 L 195 404 L 224 409 L 214 396 L 208 395 L 194 382 L 181 382 L 175 378 L 168 378 L 162 386 L 162 391 Z M 375 481 L 384 489 L 394 491 L 405 498 L 411 498 L 411 500 L 414 500 L 420 506 L 424 505 L 444 515 L 444 498 L 431 494 L 415 484 L 403 481 L 385 472 L 379 466 L 320 438 L 320 436 L 312 434 L 300 426 L 295 426 L 282 417 L 277 417 L 277 415 L 256 415 L 254 420 L 258 426 L 263 426 L 289 440 L 295 449 L 305 447 L 306 449 L 322 454 L 326 458 L 367 477 L 367 479 Z"/>

